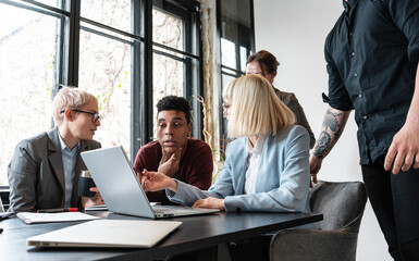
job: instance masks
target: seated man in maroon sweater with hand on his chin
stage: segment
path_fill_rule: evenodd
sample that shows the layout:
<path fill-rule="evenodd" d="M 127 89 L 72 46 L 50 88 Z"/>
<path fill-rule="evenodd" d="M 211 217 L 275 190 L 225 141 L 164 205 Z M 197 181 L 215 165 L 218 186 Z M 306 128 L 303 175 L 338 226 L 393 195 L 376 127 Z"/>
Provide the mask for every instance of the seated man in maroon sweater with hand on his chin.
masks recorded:
<path fill-rule="evenodd" d="M 157 138 L 137 153 L 134 170 L 158 171 L 170 177 L 208 189 L 211 186 L 213 161 L 210 147 L 192 138 L 190 103 L 176 96 L 167 96 L 157 103 Z M 173 204 L 164 191 L 147 192 L 152 202 Z"/>

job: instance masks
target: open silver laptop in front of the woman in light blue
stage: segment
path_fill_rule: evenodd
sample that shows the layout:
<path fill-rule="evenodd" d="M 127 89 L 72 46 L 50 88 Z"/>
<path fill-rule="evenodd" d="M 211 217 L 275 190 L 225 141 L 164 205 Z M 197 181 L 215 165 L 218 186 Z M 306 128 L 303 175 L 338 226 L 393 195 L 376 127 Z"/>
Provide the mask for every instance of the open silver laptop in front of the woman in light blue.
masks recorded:
<path fill-rule="evenodd" d="M 218 212 L 181 206 L 151 206 L 122 146 L 84 151 L 82 158 L 108 209 L 149 219 Z"/>

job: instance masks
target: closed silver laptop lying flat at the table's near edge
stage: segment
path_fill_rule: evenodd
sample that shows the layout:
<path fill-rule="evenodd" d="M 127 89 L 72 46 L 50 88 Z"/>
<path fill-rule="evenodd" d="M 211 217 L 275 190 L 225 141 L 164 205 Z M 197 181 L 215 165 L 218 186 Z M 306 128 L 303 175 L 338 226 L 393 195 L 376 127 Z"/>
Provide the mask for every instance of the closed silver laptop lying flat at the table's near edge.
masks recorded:
<path fill-rule="evenodd" d="M 37 247 L 150 248 L 173 232 L 178 221 L 98 220 L 26 239 Z"/>

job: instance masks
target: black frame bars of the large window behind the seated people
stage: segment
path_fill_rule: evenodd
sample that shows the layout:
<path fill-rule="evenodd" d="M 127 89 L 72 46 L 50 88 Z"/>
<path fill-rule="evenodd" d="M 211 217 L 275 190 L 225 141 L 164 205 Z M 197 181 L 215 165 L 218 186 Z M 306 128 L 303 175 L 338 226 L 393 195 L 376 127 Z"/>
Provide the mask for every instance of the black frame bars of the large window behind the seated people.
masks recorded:
<path fill-rule="evenodd" d="M 35 11 L 60 18 L 61 34 L 58 48 L 58 64 L 56 75 L 56 86 L 53 86 L 52 95 L 54 96 L 62 85 L 78 86 L 78 63 L 79 63 L 79 33 L 86 29 L 81 26 L 81 22 L 91 24 L 94 26 L 104 28 L 112 33 L 130 37 L 132 40 L 132 100 L 131 100 L 131 161 L 135 160 L 136 152 L 147 142 L 151 141 L 153 136 L 153 119 L 152 119 L 152 53 L 156 51 L 155 46 L 159 48 L 175 51 L 185 57 L 185 83 L 184 97 L 187 98 L 194 109 L 195 124 L 193 135 L 197 138 L 202 137 L 202 108 L 201 104 L 193 99 L 192 96 L 198 97 L 204 94 L 202 87 L 202 48 L 200 34 L 200 3 L 189 0 L 132 0 L 132 33 L 114 28 L 109 25 L 100 24 L 86 17 L 81 16 L 81 0 L 63 0 L 61 7 L 51 7 L 41 2 L 32 0 L 0 0 L 16 8 Z M 185 51 L 180 51 L 165 46 L 160 46 L 152 41 L 152 8 L 161 7 L 165 12 L 173 12 L 178 15 L 182 13 L 184 27 L 190 30 L 190 34 L 184 34 Z M 104 33 L 88 29 L 89 33 L 106 36 Z M 109 37 L 109 36 L 107 36 Z M 115 37 L 112 37 L 115 38 Z M 116 37 L 118 38 L 118 37 Z M 120 39 L 123 40 L 123 39 Z M 126 40 L 124 40 L 126 41 Z M 198 66 L 192 70 L 193 62 Z M 194 74 L 187 72 L 195 71 Z M 151 113 L 150 113 L 151 112 Z M 53 121 L 51 120 L 51 126 Z M 9 186 L 0 186 L 0 196 L 3 202 L 8 202 L 4 198 L 4 191 Z"/>

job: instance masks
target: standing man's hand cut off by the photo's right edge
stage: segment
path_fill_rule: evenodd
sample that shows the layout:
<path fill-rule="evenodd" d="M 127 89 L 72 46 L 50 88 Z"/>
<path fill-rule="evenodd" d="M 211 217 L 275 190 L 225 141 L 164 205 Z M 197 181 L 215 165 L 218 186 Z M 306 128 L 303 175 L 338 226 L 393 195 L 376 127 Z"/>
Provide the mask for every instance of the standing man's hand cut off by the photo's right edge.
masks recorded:
<path fill-rule="evenodd" d="M 393 169 L 392 169 L 393 164 Z M 408 171 L 410 166 L 419 169 L 419 125 L 406 123 L 396 135 L 384 160 L 384 169 L 393 174 Z"/>

